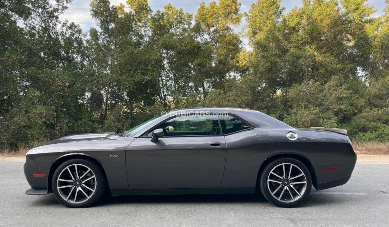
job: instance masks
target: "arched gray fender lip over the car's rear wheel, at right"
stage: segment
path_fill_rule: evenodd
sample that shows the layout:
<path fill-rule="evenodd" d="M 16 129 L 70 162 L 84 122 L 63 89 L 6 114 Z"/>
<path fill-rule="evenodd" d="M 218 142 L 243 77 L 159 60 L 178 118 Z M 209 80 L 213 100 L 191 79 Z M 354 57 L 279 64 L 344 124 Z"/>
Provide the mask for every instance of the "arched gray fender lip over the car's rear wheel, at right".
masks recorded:
<path fill-rule="evenodd" d="M 265 167 L 270 162 L 272 162 L 272 161 L 274 161 L 276 159 L 279 159 L 279 158 L 294 158 L 294 159 L 297 159 L 297 160 L 301 161 L 309 170 L 309 173 L 310 173 L 310 175 L 312 177 L 312 184 L 314 185 L 315 188 L 317 187 L 316 172 L 315 172 L 315 169 L 314 169 L 312 163 L 309 161 L 308 158 L 306 158 L 305 156 L 302 156 L 301 154 L 296 154 L 296 153 L 282 153 L 282 154 L 275 154 L 275 155 L 269 156 L 268 158 L 266 158 L 263 161 L 263 163 L 259 167 L 258 174 L 257 174 L 256 190 L 259 189 L 259 187 L 258 187 L 259 180 L 260 180 L 259 178 L 261 176 L 261 173 L 265 169 Z"/>

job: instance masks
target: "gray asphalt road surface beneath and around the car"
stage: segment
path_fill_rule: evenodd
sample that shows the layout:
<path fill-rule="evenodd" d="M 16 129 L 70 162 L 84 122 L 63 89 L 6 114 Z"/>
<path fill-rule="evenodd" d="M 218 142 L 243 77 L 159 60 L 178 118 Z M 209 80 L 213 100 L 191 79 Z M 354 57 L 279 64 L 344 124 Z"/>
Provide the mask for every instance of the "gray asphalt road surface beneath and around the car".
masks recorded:
<path fill-rule="evenodd" d="M 388 226 L 389 165 L 357 164 L 340 187 L 312 190 L 299 208 L 260 195 L 105 196 L 71 209 L 25 195 L 23 163 L 0 163 L 0 226 Z"/>

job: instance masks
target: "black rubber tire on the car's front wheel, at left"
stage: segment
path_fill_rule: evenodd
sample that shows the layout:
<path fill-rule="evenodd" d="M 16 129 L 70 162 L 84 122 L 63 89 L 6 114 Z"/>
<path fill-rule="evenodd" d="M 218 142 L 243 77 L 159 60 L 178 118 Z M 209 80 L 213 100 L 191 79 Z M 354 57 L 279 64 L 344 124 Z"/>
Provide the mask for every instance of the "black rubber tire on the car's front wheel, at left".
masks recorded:
<path fill-rule="evenodd" d="M 68 171 L 67 167 L 69 167 L 69 169 L 71 169 L 71 171 Z M 85 181 L 82 183 L 82 180 L 81 178 L 79 180 L 73 180 L 73 182 L 63 182 L 63 184 L 65 184 L 65 186 L 67 186 L 67 184 L 69 184 L 69 188 L 68 189 L 70 191 L 69 194 L 75 194 L 76 193 L 76 190 L 74 190 L 76 188 L 75 186 L 75 183 L 77 183 L 77 185 L 80 185 L 80 186 L 77 186 L 77 188 L 79 187 L 79 191 L 77 190 L 77 193 L 79 192 L 79 194 L 77 194 L 78 197 L 84 197 L 84 199 L 86 199 L 85 201 L 80 201 L 78 203 L 75 203 L 76 202 L 76 199 L 77 199 L 77 196 L 73 196 L 76 197 L 76 199 L 74 199 L 74 202 L 72 202 L 73 198 L 69 198 L 68 200 L 66 200 L 65 198 L 63 198 L 63 196 L 65 195 L 64 192 L 61 191 L 62 195 L 60 194 L 60 190 L 58 189 L 58 184 L 62 184 L 62 181 L 58 181 L 60 183 L 57 182 L 58 180 L 58 177 L 60 176 L 60 174 L 68 174 L 69 177 L 72 177 L 72 175 L 70 175 L 69 173 L 73 172 L 73 175 L 75 175 L 75 169 L 72 168 L 72 166 L 78 166 L 78 168 L 80 169 L 81 167 L 81 170 L 82 168 L 89 168 L 89 172 L 88 171 L 84 171 L 84 172 L 81 172 L 81 170 L 78 169 L 77 172 L 80 172 L 80 174 L 82 173 L 85 173 L 85 172 L 88 172 L 88 176 L 91 176 L 91 175 L 94 175 L 95 177 L 93 178 L 92 177 L 92 180 L 89 180 L 88 183 L 86 184 L 91 184 L 91 185 L 88 185 L 89 188 L 91 188 L 92 190 L 88 190 L 86 187 L 85 187 Z M 86 166 L 86 167 L 85 167 Z M 87 170 L 87 169 L 86 169 Z M 68 171 L 68 173 L 67 173 Z M 81 177 L 81 176 L 79 176 Z M 61 175 L 61 178 L 64 178 L 63 175 Z M 75 178 L 75 176 L 74 176 Z M 86 180 L 87 178 L 84 177 L 84 179 Z M 72 180 L 69 178 L 69 180 Z M 75 183 L 74 183 L 75 182 Z M 73 187 L 70 187 L 70 185 L 73 184 Z M 67 207 L 70 207 L 70 208 L 83 208 L 83 207 L 88 207 L 88 206 L 91 206 L 92 204 L 96 203 L 96 201 L 98 201 L 98 199 L 100 199 L 100 197 L 104 194 L 104 191 L 105 191 L 105 188 L 106 188 L 106 179 L 105 179 L 105 174 L 102 170 L 102 168 L 96 164 L 95 162 L 93 161 L 89 161 L 88 159 L 70 159 L 70 160 L 67 160 L 65 161 L 64 163 L 62 163 L 60 166 L 58 166 L 58 168 L 55 170 L 54 172 L 54 175 L 53 175 L 53 180 L 51 182 L 51 187 L 53 189 L 53 193 L 54 193 L 54 196 L 55 198 L 60 202 L 62 203 L 63 205 L 67 206 Z M 61 187 L 61 186 L 60 186 Z M 73 188 L 73 189 L 72 189 Z M 81 189 L 84 188 L 82 191 L 83 192 L 86 192 L 86 194 L 81 194 Z M 67 189 L 67 188 L 66 188 Z M 93 191 L 94 189 L 94 191 Z M 61 188 L 61 190 L 64 190 Z M 86 197 L 87 195 L 90 195 L 90 197 Z"/>

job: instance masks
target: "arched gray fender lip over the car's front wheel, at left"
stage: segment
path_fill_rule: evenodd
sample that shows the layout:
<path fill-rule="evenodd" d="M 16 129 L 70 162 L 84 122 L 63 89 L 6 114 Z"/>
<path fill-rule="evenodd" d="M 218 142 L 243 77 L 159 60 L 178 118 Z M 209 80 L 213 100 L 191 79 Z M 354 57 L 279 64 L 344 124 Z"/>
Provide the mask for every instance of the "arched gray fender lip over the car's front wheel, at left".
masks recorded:
<path fill-rule="evenodd" d="M 49 169 L 49 177 L 47 178 L 47 191 L 48 192 L 53 192 L 53 189 L 51 188 L 51 181 L 53 180 L 54 172 L 58 168 L 58 166 L 60 166 L 62 163 L 64 163 L 67 160 L 76 159 L 76 158 L 87 159 L 89 161 L 96 163 L 98 166 L 100 166 L 100 168 L 102 168 L 102 170 L 103 170 L 105 180 L 107 181 L 106 184 L 107 184 L 107 187 L 109 189 L 107 173 L 105 173 L 103 165 L 100 163 L 100 161 L 96 157 L 94 157 L 90 154 L 84 154 L 84 153 L 70 153 L 70 154 L 64 154 L 64 155 L 56 158 L 53 161 L 53 163 L 51 164 L 50 169 Z"/>

